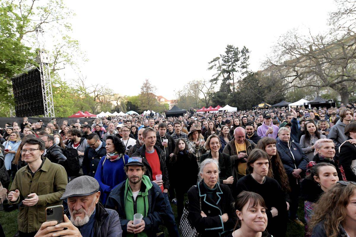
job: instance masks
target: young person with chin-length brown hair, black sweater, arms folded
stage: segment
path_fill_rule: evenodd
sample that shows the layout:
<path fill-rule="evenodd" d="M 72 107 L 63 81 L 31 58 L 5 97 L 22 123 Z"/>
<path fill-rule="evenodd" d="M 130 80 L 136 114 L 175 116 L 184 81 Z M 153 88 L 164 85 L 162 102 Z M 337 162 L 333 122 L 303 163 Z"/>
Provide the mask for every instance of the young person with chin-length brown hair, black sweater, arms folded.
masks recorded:
<path fill-rule="evenodd" d="M 274 237 L 286 236 L 286 195 L 275 179 L 267 177 L 270 166 L 271 161 L 267 153 L 261 149 L 254 149 L 247 159 L 247 171 L 250 174 L 237 181 L 236 193 L 250 191 L 260 194 L 268 208 L 266 212 L 268 233 Z"/>

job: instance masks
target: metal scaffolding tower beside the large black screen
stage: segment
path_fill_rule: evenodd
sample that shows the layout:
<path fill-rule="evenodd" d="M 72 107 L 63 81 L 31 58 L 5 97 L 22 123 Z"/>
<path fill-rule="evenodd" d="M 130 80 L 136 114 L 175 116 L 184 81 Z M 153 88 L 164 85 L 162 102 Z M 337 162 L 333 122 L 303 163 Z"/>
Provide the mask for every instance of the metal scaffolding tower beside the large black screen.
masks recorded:
<path fill-rule="evenodd" d="M 36 29 L 38 52 L 37 52 L 37 63 L 39 64 L 38 70 L 40 70 L 41 84 L 42 84 L 42 98 L 43 98 L 43 111 L 45 117 L 54 117 L 54 104 L 53 104 L 53 93 L 52 93 L 52 81 L 51 81 L 51 70 L 49 67 L 49 54 L 45 49 L 45 40 L 43 37 L 42 28 L 38 27 Z M 41 40 L 42 39 L 42 40 Z"/>

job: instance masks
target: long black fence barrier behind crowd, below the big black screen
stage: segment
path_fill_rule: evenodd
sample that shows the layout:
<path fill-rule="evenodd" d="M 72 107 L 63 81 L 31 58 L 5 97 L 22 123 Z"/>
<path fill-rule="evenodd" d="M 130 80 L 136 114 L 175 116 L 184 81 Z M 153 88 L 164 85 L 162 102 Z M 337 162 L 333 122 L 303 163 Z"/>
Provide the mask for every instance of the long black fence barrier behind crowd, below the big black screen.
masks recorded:
<path fill-rule="evenodd" d="M 28 122 L 30 122 L 31 124 L 34 124 L 36 122 L 38 122 L 38 120 L 42 120 L 43 124 L 45 126 L 47 126 L 47 123 L 49 123 L 51 121 L 52 118 L 48 118 L 48 117 L 28 117 Z M 59 126 L 61 126 L 63 124 L 63 120 L 68 120 L 68 124 L 72 124 L 72 123 L 77 123 L 77 119 L 79 119 L 79 123 L 80 124 L 84 124 L 84 122 L 88 122 L 88 124 L 93 124 L 93 120 L 95 120 L 95 118 L 60 118 L 60 117 L 56 117 L 56 122 Z M 1 128 L 5 128 L 5 124 L 6 123 L 13 123 L 13 122 L 17 122 L 17 124 L 23 123 L 23 118 L 19 118 L 19 117 L 15 117 L 15 118 L 11 118 L 11 117 L 0 117 L 0 127 Z"/>

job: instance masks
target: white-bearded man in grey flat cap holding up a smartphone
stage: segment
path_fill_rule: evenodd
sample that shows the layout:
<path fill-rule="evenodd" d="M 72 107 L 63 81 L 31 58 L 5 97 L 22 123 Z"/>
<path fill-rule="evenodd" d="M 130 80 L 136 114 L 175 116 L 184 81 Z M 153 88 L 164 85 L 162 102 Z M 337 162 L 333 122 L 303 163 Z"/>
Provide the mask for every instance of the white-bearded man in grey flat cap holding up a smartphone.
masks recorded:
<path fill-rule="evenodd" d="M 90 176 L 80 176 L 70 181 L 62 198 L 67 199 L 68 210 L 64 222 L 42 223 L 35 237 L 48 233 L 54 236 L 121 237 L 122 230 L 116 211 L 99 203 L 99 183 Z"/>

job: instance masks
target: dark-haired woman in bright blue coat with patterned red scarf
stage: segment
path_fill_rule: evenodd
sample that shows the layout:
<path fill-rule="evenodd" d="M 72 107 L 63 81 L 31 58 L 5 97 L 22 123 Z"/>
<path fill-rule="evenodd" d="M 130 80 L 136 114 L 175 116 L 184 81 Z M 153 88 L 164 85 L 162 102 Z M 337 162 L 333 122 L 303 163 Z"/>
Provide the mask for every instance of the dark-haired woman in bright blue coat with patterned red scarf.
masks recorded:
<path fill-rule="evenodd" d="M 117 136 L 106 138 L 105 149 L 106 156 L 100 159 L 94 176 L 100 185 L 100 200 L 103 205 L 111 190 L 126 179 L 124 166 L 129 160 L 129 156 L 125 155 L 125 145 Z"/>

